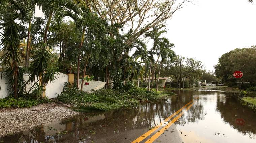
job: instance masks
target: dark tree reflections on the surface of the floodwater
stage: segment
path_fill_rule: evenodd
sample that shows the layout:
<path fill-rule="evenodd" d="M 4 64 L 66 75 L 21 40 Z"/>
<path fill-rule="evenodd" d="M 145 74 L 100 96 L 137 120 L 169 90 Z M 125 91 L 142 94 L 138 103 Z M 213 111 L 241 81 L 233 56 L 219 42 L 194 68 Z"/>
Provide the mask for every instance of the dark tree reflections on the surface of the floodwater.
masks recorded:
<path fill-rule="evenodd" d="M 175 91 L 177 95 L 163 97 L 156 102 L 142 103 L 136 108 L 121 108 L 108 112 L 81 113 L 73 118 L 0 138 L 4 142 L 87 142 L 115 137 L 137 129 L 148 129 L 165 125 L 164 119 L 193 100 L 194 105 L 175 124 L 185 125 L 203 120 L 208 109 L 204 105 L 216 102 L 216 111 L 225 122 L 243 134 L 255 137 L 256 114 L 242 106 L 233 96 L 217 92 Z M 216 101 L 215 101 L 216 99 Z M 243 118 L 245 126 L 235 124 L 236 118 Z M 51 129 L 51 131 L 49 130 Z M 47 130 L 48 129 L 48 130 Z"/>

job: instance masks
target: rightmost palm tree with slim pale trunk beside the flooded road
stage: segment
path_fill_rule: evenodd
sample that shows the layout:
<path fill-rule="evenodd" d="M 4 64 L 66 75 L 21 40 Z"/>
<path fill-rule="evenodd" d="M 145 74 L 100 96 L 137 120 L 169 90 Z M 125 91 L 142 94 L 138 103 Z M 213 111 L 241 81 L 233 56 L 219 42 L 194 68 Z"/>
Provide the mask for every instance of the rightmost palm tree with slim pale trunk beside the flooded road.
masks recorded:
<path fill-rule="evenodd" d="M 157 77 L 157 86 L 156 86 L 157 91 L 158 91 L 158 82 L 159 82 L 159 76 L 160 76 L 162 64 L 165 63 L 165 60 L 167 58 L 170 58 L 172 61 L 173 57 L 175 56 L 175 52 L 170 49 L 171 47 L 174 47 L 173 43 L 166 43 L 165 41 L 162 41 L 160 43 L 161 62 L 160 62 L 158 77 Z"/>

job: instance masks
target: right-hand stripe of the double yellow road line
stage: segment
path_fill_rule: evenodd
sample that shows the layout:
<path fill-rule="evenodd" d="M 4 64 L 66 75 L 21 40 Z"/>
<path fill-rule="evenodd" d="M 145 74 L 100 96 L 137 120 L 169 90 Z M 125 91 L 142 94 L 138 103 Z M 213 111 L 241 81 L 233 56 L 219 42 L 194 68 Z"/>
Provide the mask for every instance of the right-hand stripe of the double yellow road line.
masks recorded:
<path fill-rule="evenodd" d="M 191 105 L 189 105 L 186 110 L 190 109 L 191 106 L 193 105 L 194 103 L 192 103 Z M 154 134 L 151 138 L 149 138 L 145 143 L 152 143 L 153 141 L 155 141 L 162 133 L 164 133 L 164 131 L 166 131 L 175 121 L 177 121 L 181 116 L 182 114 L 184 113 L 181 112 L 178 116 L 176 116 L 173 120 L 171 120 L 171 122 L 169 122 L 167 125 L 165 125 L 162 129 L 160 129 L 156 134 Z"/>

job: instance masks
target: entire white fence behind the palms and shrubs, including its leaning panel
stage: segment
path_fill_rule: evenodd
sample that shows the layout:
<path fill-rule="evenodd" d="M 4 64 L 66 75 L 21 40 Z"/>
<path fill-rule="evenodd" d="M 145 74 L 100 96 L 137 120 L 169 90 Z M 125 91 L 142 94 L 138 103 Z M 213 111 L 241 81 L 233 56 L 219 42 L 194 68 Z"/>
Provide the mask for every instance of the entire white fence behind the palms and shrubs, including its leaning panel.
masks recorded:
<path fill-rule="evenodd" d="M 8 96 L 8 84 L 7 81 L 4 78 L 4 72 L 0 73 L 0 98 L 5 98 Z M 24 74 L 23 78 L 25 81 L 28 80 L 29 75 Z M 64 86 L 64 82 L 68 82 L 68 75 L 59 73 L 59 75 L 56 77 L 57 79 L 54 80 L 54 83 L 49 82 L 48 85 L 46 86 L 46 93 L 45 96 L 48 97 L 49 99 L 55 98 L 58 94 L 61 94 L 62 88 Z M 79 87 L 81 87 L 81 82 L 82 79 L 79 80 Z M 105 86 L 106 82 L 101 82 L 101 81 L 87 81 L 89 85 L 85 85 L 86 81 L 84 82 L 83 90 L 86 92 L 90 92 L 92 89 L 93 90 L 98 90 L 101 89 Z M 33 83 L 32 83 L 33 84 Z M 32 84 L 27 84 L 25 89 L 28 91 Z"/>

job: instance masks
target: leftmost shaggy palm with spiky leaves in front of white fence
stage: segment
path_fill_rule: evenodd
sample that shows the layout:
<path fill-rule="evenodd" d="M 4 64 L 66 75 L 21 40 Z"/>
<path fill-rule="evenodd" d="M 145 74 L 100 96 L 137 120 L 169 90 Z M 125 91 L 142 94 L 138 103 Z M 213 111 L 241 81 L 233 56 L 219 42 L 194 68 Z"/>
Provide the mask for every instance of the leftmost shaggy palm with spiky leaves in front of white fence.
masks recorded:
<path fill-rule="evenodd" d="M 0 23 L 0 41 L 3 55 L 3 65 L 8 66 L 12 70 L 12 81 L 14 85 L 11 85 L 14 89 L 14 97 L 18 97 L 18 75 L 19 75 L 19 64 L 20 64 L 20 54 L 19 46 L 21 44 L 21 39 L 25 38 L 23 27 L 22 16 L 26 15 L 24 7 L 15 1 L 7 1 L 6 9 L 1 6 L 1 10 L 5 9 L 0 13 L 1 20 Z M 17 23 L 16 21 L 20 21 Z"/>

